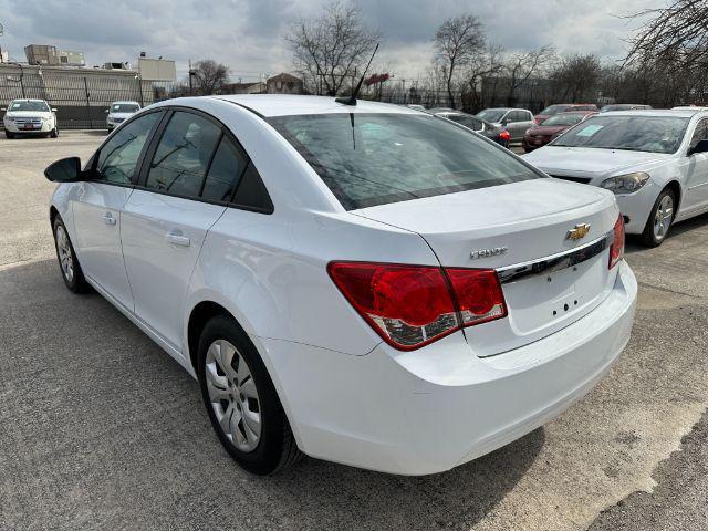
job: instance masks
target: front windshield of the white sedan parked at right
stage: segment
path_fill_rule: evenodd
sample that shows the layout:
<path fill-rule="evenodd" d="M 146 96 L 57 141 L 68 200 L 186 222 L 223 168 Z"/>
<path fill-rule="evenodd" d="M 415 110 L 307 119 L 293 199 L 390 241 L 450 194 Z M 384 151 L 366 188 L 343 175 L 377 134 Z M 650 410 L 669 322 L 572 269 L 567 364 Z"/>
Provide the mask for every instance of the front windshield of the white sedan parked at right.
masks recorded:
<path fill-rule="evenodd" d="M 688 118 L 678 116 L 594 116 L 551 145 L 676 153 L 687 125 Z"/>

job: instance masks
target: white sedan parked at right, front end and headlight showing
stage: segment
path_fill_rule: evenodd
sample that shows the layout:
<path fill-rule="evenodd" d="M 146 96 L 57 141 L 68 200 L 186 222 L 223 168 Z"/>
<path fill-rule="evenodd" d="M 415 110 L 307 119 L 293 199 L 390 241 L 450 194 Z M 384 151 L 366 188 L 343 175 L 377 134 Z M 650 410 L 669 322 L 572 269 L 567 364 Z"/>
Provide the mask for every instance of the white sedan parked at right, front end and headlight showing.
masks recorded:
<path fill-rule="evenodd" d="M 649 247 L 674 222 L 708 211 L 708 112 L 699 107 L 604 113 L 523 158 L 614 191 L 627 233 Z"/>

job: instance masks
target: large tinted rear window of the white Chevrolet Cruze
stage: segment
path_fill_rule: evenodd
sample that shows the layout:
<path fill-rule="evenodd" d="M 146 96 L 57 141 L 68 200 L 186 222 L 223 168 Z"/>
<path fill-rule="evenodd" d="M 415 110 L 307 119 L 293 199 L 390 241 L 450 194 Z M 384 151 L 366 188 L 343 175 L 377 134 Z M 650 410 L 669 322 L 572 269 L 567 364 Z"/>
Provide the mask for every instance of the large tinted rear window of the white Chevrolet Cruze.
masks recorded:
<path fill-rule="evenodd" d="M 502 148 L 435 116 L 337 113 L 268 122 L 347 210 L 541 177 Z"/>

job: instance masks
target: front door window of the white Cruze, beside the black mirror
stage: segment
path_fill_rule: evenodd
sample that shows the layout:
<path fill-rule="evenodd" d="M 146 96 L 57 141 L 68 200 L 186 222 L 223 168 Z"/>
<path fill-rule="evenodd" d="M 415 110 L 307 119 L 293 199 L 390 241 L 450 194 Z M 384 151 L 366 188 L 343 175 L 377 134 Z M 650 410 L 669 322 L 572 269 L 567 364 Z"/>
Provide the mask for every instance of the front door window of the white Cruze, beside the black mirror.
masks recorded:
<path fill-rule="evenodd" d="M 159 116 L 160 113 L 149 113 L 116 131 L 98 152 L 93 180 L 133 184 L 143 146 Z"/>

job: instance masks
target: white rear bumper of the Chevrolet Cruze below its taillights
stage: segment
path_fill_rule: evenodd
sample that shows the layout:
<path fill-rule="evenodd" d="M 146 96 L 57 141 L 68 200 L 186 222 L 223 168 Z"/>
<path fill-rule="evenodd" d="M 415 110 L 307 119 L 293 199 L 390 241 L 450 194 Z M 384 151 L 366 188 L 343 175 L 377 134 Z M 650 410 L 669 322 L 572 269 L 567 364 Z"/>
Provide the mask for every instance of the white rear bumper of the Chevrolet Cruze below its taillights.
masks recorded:
<path fill-rule="evenodd" d="M 611 294 L 560 332 L 480 358 L 461 333 L 364 356 L 253 337 L 300 448 L 400 475 L 448 470 L 543 425 L 584 396 L 617 358 L 634 321 L 626 262 Z M 482 333 L 482 326 L 473 333 Z"/>

